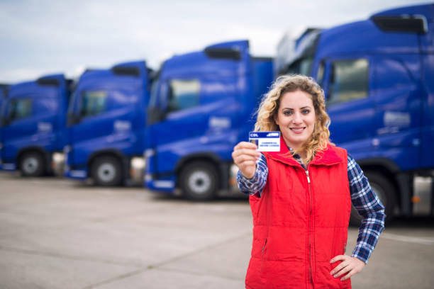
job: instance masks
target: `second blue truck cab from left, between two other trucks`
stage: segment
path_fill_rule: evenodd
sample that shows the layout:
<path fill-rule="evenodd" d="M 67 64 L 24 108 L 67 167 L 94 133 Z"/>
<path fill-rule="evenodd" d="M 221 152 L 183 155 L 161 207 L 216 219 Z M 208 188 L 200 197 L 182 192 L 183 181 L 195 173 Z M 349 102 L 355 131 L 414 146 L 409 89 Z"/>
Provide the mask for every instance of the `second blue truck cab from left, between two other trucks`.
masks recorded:
<path fill-rule="evenodd" d="M 152 71 L 144 61 L 89 69 L 77 82 L 68 111 L 65 176 L 117 186 L 143 159 Z"/>

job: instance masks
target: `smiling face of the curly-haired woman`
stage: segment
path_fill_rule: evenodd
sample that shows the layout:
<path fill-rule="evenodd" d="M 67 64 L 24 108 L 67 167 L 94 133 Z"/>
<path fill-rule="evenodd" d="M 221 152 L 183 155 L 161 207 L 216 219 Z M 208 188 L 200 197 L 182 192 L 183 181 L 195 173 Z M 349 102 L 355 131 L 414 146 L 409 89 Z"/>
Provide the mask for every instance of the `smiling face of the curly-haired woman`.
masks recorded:
<path fill-rule="evenodd" d="M 288 147 L 302 147 L 315 128 L 316 115 L 311 95 L 300 90 L 286 92 L 280 98 L 274 121 Z"/>

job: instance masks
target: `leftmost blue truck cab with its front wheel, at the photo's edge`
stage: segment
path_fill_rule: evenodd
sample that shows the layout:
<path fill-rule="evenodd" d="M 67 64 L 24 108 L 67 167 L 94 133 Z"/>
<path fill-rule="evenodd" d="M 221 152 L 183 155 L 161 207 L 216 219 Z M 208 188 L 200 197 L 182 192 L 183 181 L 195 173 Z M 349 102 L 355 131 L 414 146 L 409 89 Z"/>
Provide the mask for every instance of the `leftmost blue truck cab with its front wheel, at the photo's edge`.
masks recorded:
<path fill-rule="evenodd" d="M 2 90 L 7 96 L 1 109 L 1 169 L 18 169 L 23 176 L 52 173 L 52 157 L 66 144 L 71 84 L 54 74 Z"/>

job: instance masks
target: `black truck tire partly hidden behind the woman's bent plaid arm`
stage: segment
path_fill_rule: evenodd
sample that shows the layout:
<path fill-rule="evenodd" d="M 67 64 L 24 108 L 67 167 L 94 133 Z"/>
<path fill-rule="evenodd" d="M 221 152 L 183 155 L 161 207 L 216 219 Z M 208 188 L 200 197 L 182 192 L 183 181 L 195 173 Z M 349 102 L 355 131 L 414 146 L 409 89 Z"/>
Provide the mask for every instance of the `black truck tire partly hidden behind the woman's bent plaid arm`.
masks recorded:
<path fill-rule="evenodd" d="M 394 209 L 396 204 L 396 189 L 389 179 L 383 174 L 377 172 L 365 173 L 372 190 L 377 194 L 379 200 L 384 205 L 384 213 L 386 221 L 390 222 L 394 217 Z M 357 213 L 357 210 L 351 205 L 350 225 L 359 226 L 362 217 Z"/>

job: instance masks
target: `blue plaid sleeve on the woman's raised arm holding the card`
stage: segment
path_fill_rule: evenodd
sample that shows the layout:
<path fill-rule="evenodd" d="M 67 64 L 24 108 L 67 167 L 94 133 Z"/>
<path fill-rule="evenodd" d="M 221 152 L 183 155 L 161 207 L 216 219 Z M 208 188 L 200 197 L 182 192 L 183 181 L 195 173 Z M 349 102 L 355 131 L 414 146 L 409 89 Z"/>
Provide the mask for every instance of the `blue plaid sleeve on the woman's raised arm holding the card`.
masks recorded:
<path fill-rule="evenodd" d="M 262 190 L 265 187 L 265 183 L 267 183 L 268 177 L 268 166 L 267 159 L 265 159 L 264 154 L 261 153 L 260 159 L 256 162 L 256 172 L 255 176 L 252 179 L 247 179 L 240 171 L 237 174 L 237 183 L 238 188 L 242 193 L 247 195 L 255 195 L 260 197 L 262 194 Z"/>

